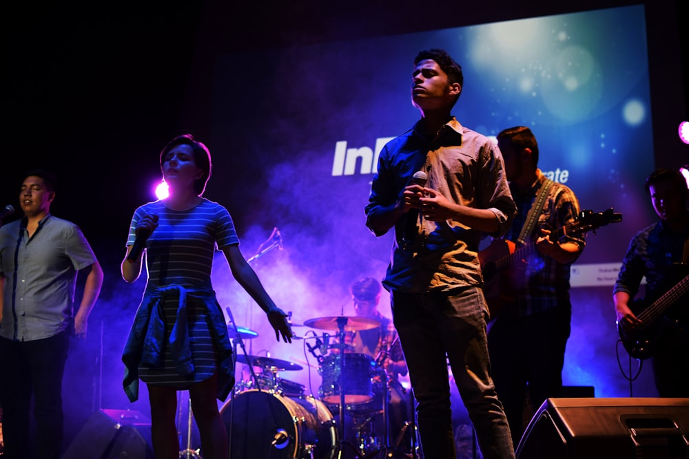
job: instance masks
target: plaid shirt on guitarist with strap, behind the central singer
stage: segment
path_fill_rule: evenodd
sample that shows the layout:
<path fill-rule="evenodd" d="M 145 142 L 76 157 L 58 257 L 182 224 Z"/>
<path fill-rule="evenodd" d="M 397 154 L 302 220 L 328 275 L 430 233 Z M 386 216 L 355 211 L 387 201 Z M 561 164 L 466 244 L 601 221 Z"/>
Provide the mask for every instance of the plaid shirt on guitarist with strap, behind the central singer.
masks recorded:
<path fill-rule="evenodd" d="M 537 198 L 538 192 L 546 182 L 546 176 L 537 170 L 538 179 L 531 189 L 520 194 L 513 190 L 512 196 L 517 204 L 517 216 L 512 228 L 505 238 L 516 242 L 522 227 L 526 222 L 528 212 Z M 579 215 L 579 201 L 568 186 L 553 182 L 546 191 L 546 201 L 539 212 L 537 223 L 527 239 L 528 244 L 535 244 L 540 235 L 540 229 L 557 231 L 567 224 L 577 220 Z M 586 246 L 584 235 L 568 235 L 559 239 L 559 242 L 574 242 L 582 247 Z M 570 308 L 569 279 L 571 263 L 560 264 L 551 257 L 542 255 L 538 250 L 531 250 L 524 274 L 524 288 L 517 292 L 517 312 L 519 315 L 529 315 L 556 306 Z"/>

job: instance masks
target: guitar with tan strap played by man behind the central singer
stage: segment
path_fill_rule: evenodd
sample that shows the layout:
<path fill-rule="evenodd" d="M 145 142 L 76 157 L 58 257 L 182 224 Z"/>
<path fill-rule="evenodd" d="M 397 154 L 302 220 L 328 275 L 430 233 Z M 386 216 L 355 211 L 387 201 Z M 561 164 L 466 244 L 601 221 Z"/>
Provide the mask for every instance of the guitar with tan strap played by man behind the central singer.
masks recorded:
<path fill-rule="evenodd" d="M 613 208 L 604 212 L 581 211 L 574 222 L 557 228 L 551 233 L 551 240 L 563 236 L 576 236 L 594 231 L 610 223 L 622 221 L 622 214 Z M 497 316 L 504 306 L 514 301 L 516 292 L 524 285 L 526 260 L 536 250 L 536 243 L 530 242 L 517 247 L 506 239 L 493 239 L 490 246 L 480 250 L 478 259 L 484 279 L 484 295 L 491 317 Z"/>

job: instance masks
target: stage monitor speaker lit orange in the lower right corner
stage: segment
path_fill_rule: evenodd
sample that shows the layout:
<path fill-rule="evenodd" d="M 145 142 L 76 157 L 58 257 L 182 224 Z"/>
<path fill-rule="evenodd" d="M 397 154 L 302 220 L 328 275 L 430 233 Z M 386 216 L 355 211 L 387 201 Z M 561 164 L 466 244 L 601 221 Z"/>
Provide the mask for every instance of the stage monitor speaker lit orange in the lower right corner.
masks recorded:
<path fill-rule="evenodd" d="M 689 458 L 689 398 L 548 398 L 517 459 Z"/>

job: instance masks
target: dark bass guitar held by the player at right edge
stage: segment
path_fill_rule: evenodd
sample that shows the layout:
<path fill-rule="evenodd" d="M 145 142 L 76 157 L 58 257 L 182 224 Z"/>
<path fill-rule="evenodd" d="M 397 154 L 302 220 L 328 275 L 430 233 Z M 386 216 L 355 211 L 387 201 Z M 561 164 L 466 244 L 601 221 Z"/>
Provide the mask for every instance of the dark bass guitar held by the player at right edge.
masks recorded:
<path fill-rule="evenodd" d="M 617 323 L 617 332 L 630 356 L 639 360 L 653 356 L 655 337 L 666 330 L 666 327 L 676 325 L 671 319 L 664 317 L 665 312 L 675 306 L 687 292 L 689 292 L 689 276 L 681 279 L 652 303 L 646 299 L 637 299 L 629 305 L 641 324 L 635 328 L 625 329 Z"/>

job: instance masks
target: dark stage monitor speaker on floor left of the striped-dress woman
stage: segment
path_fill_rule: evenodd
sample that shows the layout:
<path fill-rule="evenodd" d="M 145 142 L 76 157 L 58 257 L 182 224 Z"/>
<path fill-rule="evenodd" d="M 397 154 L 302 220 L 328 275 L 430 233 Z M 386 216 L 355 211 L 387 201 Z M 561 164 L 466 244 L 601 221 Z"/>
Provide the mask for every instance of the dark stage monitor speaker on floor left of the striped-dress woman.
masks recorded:
<path fill-rule="evenodd" d="M 153 459 L 151 421 L 128 409 L 99 409 L 62 459 Z"/>

